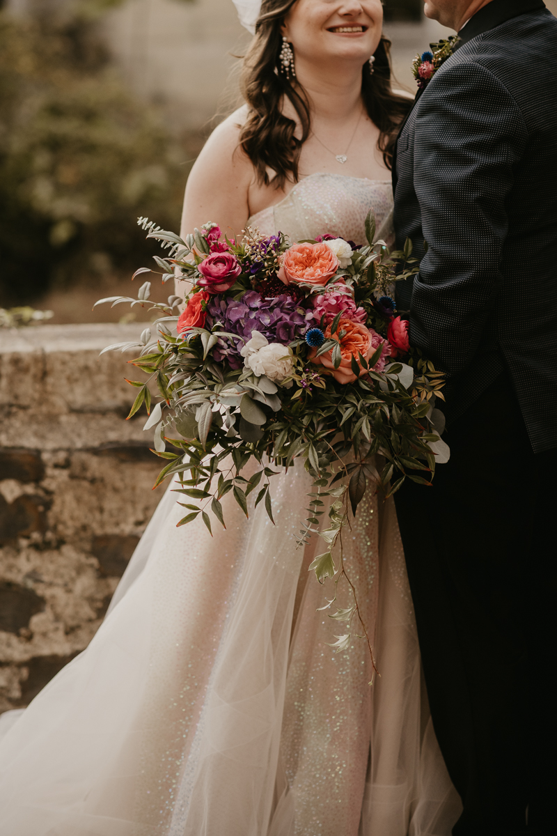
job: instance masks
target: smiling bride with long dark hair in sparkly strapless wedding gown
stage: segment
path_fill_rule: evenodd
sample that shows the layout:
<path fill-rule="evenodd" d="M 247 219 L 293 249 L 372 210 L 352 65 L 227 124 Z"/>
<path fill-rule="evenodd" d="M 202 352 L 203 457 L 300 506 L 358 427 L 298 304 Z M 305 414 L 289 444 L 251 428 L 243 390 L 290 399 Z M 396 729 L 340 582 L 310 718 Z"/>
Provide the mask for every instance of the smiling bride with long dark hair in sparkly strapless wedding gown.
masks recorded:
<path fill-rule="evenodd" d="M 381 31 L 379 0 L 264 0 L 246 104 L 191 172 L 185 232 L 362 243 L 372 207 L 387 235 L 408 100 L 391 92 Z M 315 543 L 296 549 L 307 478 L 275 477 L 276 526 L 232 500 L 214 538 L 176 528 L 165 494 L 87 650 L 3 718 L 3 836 L 448 836 L 459 799 L 392 500 L 362 502 L 347 538 L 381 673 L 370 687 L 366 643 L 330 647 L 343 625 L 319 609 L 332 595 L 307 572 Z"/>

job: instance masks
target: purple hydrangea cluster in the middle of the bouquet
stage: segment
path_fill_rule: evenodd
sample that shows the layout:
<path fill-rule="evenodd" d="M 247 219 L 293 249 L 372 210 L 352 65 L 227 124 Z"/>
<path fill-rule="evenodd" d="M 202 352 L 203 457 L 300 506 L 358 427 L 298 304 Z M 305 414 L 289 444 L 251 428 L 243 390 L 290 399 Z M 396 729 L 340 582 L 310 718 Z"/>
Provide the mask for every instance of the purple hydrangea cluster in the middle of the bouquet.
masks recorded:
<path fill-rule="evenodd" d="M 311 313 L 308 314 L 311 319 Z M 220 322 L 225 331 L 238 334 L 239 339 L 220 338 L 213 349 L 213 357 L 220 363 L 227 359 L 232 369 L 240 369 L 244 362 L 240 349 L 251 339 L 252 331 L 265 334 L 270 343 L 288 345 L 306 332 L 306 311 L 291 296 L 264 299 L 261 293 L 248 290 L 237 301 L 220 295 L 207 303 L 206 327 Z M 240 339 L 243 338 L 243 339 Z"/>

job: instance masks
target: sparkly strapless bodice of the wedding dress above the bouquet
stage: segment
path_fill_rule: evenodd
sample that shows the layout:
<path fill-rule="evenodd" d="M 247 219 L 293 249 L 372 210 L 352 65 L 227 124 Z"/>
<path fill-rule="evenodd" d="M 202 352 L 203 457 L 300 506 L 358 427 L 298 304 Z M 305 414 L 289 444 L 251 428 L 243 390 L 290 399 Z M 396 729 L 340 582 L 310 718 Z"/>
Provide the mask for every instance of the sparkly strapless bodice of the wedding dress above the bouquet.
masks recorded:
<path fill-rule="evenodd" d="M 392 239 L 391 181 L 318 173 L 304 177 L 274 206 L 248 221 L 262 235 L 284 232 L 291 242 L 329 232 L 356 244 L 366 241 L 367 212 L 375 212 L 377 237 Z"/>

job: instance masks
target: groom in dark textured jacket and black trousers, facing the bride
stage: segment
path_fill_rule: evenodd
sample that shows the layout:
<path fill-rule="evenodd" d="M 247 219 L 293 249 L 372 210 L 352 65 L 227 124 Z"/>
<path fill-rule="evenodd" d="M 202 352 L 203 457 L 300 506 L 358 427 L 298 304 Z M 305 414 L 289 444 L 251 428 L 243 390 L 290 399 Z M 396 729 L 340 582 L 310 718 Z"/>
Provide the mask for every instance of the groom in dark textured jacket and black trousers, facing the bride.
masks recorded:
<path fill-rule="evenodd" d="M 557 832 L 557 20 L 426 0 L 458 32 L 393 166 L 410 342 L 448 376 L 451 448 L 395 495 L 454 836 Z M 424 48 L 427 45 L 424 44 Z M 428 252 L 423 255 L 423 241 Z"/>

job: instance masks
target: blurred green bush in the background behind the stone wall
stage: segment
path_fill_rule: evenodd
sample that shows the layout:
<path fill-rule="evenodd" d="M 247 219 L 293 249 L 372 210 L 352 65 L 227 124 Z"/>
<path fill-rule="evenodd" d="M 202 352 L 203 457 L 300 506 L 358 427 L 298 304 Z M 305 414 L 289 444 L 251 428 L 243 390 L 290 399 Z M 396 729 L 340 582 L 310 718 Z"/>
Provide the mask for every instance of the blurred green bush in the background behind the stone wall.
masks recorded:
<path fill-rule="evenodd" d="M 110 69 L 94 20 L 0 11 L 0 305 L 145 263 L 158 247 L 136 217 L 178 227 L 185 156 Z"/>

